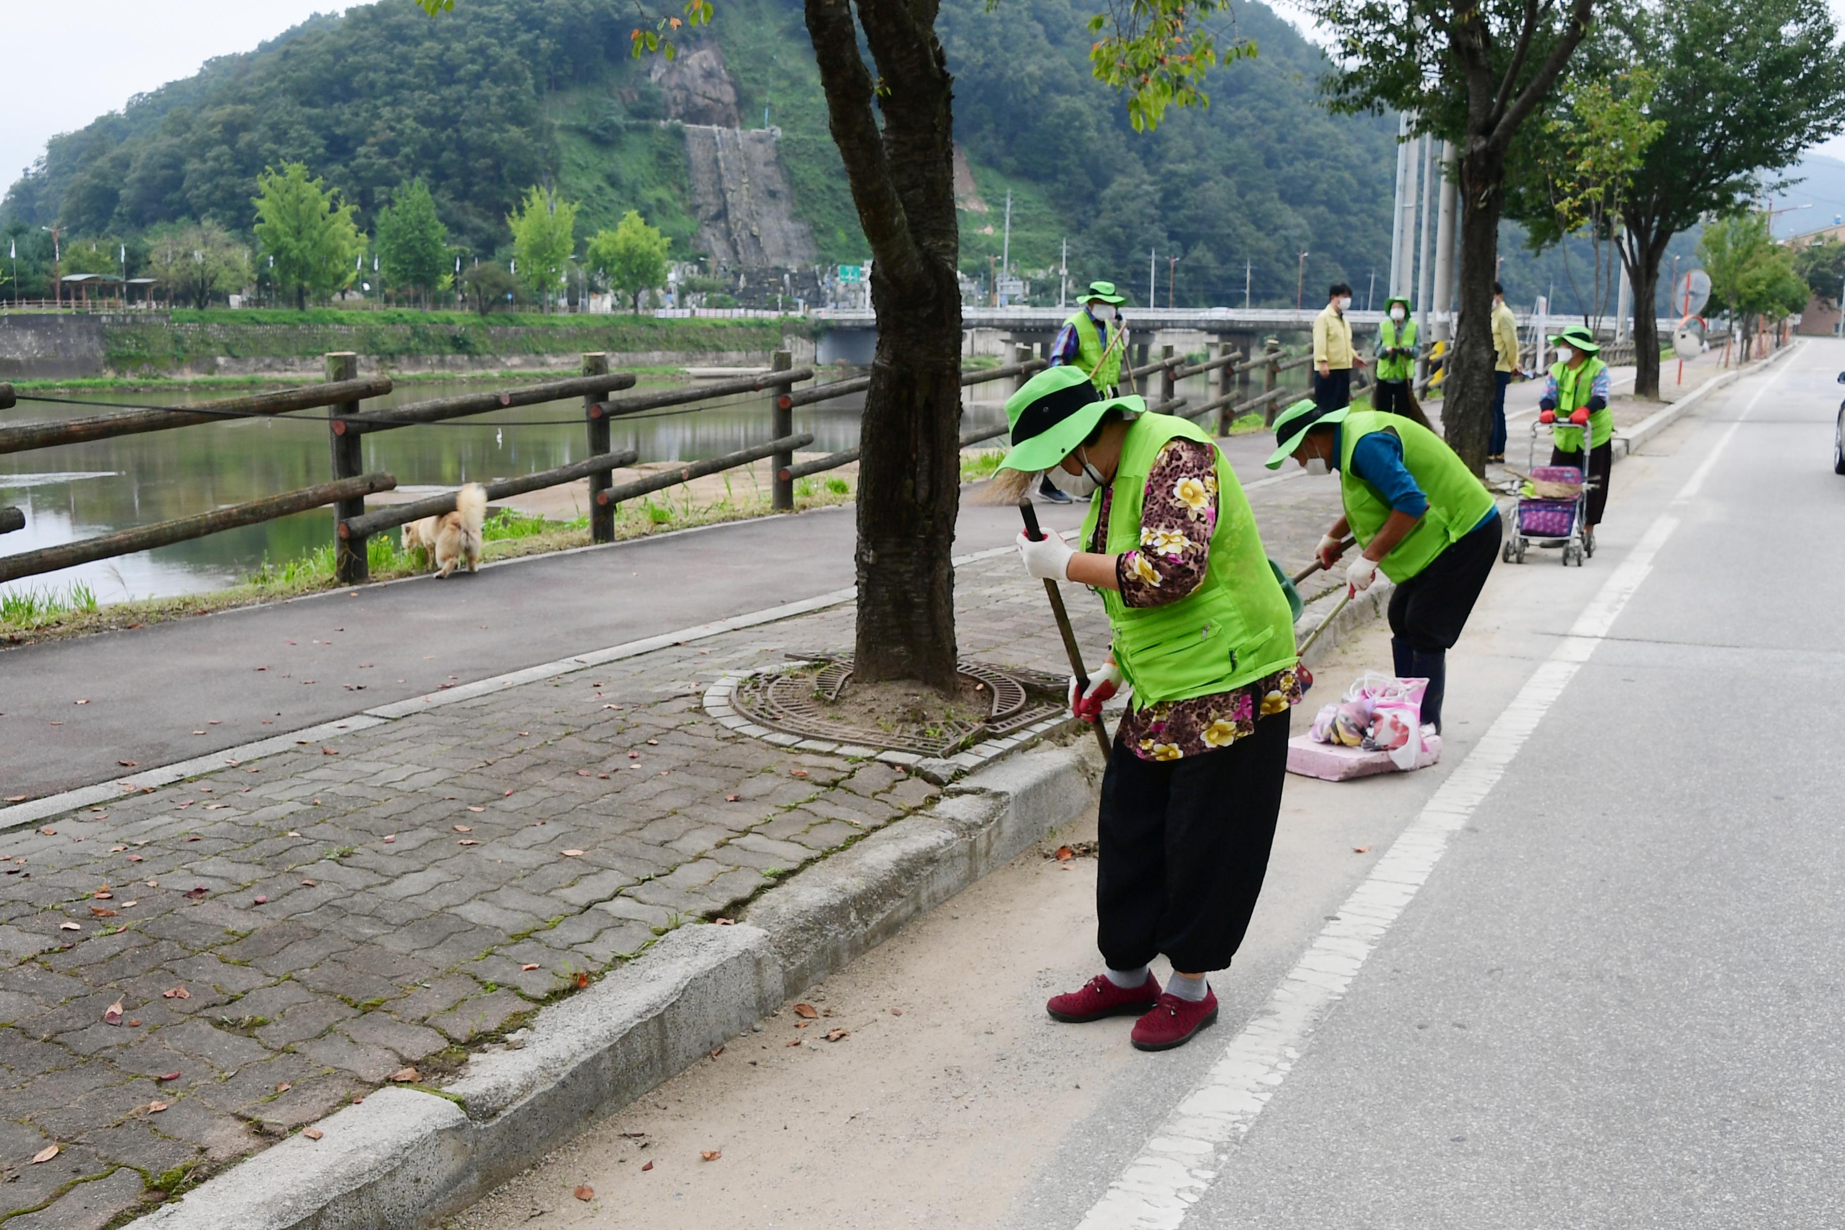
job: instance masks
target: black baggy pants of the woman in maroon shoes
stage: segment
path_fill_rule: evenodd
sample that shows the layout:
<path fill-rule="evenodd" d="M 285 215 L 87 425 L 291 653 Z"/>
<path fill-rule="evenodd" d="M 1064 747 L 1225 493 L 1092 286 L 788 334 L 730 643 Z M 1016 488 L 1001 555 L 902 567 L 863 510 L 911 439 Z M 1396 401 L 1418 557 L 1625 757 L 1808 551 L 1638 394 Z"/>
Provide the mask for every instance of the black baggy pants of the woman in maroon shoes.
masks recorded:
<path fill-rule="evenodd" d="M 1183 974 L 1231 964 L 1262 893 L 1286 776 L 1286 712 L 1181 760 L 1140 760 L 1114 741 L 1096 876 L 1096 946 L 1111 970 L 1159 953 Z"/>

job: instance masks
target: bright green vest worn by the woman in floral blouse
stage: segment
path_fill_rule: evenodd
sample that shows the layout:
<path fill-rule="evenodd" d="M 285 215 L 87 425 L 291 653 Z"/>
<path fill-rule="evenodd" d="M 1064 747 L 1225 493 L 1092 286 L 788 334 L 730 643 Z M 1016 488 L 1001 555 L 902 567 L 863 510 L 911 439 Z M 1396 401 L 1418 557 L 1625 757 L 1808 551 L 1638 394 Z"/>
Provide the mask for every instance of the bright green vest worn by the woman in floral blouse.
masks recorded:
<path fill-rule="evenodd" d="M 1210 444 L 1218 455 L 1218 527 L 1210 535 L 1205 579 L 1179 601 L 1129 607 L 1118 592 L 1100 590 L 1114 631 L 1114 662 L 1135 688 L 1137 708 L 1229 692 L 1299 660 L 1293 610 L 1262 553 L 1249 498 L 1223 450 L 1188 419 L 1144 413 L 1129 426 L 1109 483 L 1114 496 L 1103 550 L 1120 555 L 1140 546 L 1148 472 L 1159 450 L 1175 437 Z M 1090 500 L 1085 544 L 1094 542 L 1100 518 L 1101 500 Z"/>

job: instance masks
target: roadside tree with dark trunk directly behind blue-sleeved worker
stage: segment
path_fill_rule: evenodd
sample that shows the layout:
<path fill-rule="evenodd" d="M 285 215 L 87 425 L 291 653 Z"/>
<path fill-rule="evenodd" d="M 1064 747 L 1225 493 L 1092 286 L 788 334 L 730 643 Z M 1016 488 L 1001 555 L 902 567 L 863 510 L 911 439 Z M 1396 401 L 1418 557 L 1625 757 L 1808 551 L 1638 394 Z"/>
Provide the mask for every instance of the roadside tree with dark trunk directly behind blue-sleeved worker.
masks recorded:
<path fill-rule="evenodd" d="M 1589 33 L 1594 0 L 1306 0 L 1334 37 L 1336 111 L 1404 111 L 1456 146 L 1459 330 L 1443 385 L 1448 444 L 1478 474 L 1493 428 L 1493 275 L 1506 164 Z"/>

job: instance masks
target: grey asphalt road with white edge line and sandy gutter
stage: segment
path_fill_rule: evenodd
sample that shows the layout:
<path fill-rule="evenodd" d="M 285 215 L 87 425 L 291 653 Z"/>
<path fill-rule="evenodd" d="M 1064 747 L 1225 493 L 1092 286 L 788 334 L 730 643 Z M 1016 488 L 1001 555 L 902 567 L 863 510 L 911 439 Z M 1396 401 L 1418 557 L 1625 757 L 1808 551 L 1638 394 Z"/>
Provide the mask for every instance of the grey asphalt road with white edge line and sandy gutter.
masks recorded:
<path fill-rule="evenodd" d="M 1094 863 L 1028 854 L 801 992 L 845 1042 L 784 1009 L 450 1224 L 1845 1224 L 1839 369 L 1808 341 L 1618 467 L 1587 568 L 1500 566 L 1441 765 L 1290 778 L 1192 1046 L 1042 1016 Z"/>

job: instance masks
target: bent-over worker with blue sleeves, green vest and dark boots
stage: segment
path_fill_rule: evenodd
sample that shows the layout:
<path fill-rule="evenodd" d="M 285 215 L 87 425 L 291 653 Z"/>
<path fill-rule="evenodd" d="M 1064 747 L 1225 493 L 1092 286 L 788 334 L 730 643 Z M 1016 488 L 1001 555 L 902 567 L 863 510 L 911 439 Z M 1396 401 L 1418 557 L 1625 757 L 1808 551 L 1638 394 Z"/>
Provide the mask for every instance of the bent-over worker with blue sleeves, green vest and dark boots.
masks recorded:
<path fill-rule="evenodd" d="M 1308 474 L 1339 474 L 1345 513 L 1319 540 L 1328 570 L 1347 531 L 1360 548 L 1351 592 L 1378 570 L 1397 583 L 1389 599 L 1391 656 L 1400 679 L 1426 679 L 1422 725 L 1441 732 L 1446 653 L 1480 597 L 1506 526 L 1493 494 L 1428 428 L 1378 411 L 1325 409 L 1310 400 L 1275 419 L 1279 448 L 1268 468 L 1293 457 Z"/>

